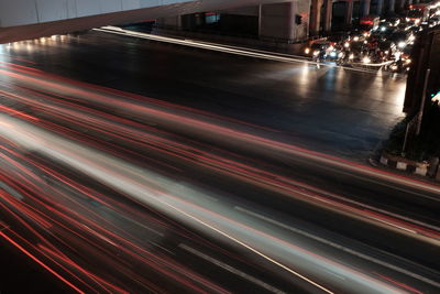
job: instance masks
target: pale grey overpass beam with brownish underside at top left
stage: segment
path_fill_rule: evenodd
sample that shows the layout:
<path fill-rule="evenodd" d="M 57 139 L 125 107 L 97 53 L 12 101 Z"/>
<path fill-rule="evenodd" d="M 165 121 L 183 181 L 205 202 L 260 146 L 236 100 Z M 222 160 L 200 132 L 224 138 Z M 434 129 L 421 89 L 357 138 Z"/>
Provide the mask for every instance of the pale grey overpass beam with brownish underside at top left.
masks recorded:
<path fill-rule="evenodd" d="M 0 43 L 110 24 L 287 0 L 15 0 L 0 2 Z"/>

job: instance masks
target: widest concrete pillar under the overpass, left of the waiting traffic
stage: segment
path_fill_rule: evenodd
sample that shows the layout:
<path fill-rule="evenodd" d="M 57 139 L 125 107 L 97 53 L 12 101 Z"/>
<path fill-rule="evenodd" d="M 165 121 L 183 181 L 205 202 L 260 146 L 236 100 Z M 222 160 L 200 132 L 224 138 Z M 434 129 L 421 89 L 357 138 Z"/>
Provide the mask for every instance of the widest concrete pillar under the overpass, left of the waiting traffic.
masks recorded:
<path fill-rule="evenodd" d="M 310 2 L 292 1 L 263 4 L 260 36 L 301 40 L 308 36 Z M 296 23 L 297 18 L 301 23 Z"/>

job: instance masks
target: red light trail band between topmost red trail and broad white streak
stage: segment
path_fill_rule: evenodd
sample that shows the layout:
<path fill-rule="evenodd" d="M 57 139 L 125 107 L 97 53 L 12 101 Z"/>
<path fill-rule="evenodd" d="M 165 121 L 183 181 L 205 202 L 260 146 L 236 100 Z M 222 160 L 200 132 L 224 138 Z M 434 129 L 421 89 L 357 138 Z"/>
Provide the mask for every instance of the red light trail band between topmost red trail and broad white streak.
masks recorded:
<path fill-rule="evenodd" d="M 28 104 L 30 106 L 38 107 L 41 109 L 41 111 L 47 112 L 50 110 L 51 116 L 61 117 L 62 120 L 72 120 L 73 123 L 79 123 L 81 126 L 81 128 L 85 128 L 85 129 L 96 129 L 97 131 L 105 129 L 106 133 L 111 133 L 114 137 L 120 137 L 119 134 L 123 134 L 120 139 L 127 140 L 127 139 L 133 138 L 132 144 L 135 144 L 136 141 L 142 139 L 143 142 L 145 142 L 145 143 L 148 142 L 150 145 L 160 146 L 164 151 L 169 150 L 169 152 L 172 152 L 169 154 L 175 154 L 175 155 L 178 154 L 180 156 L 180 159 L 183 159 L 183 160 L 191 161 L 191 159 L 196 156 L 197 161 L 194 161 L 194 162 L 201 164 L 207 168 L 215 170 L 216 172 L 220 172 L 220 173 L 223 173 L 229 176 L 238 177 L 241 181 L 250 182 L 254 185 L 264 184 L 264 187 L 268 186 L 273 190 L 286 193 L 287 196 L 289 196 L 289 197 L 298 198 L 297 195 L 302 195 L 302 196 L 307 197 L 308 202 L 310 202 L 312 204 L 323 203 L 323 206 L 327 208 L 330 208 L 328 206 L 330 204 L 339 213 L 342 209 L 345 213 L 350 211 L 351 216 L 354 216 L 356 218 L 359 218 L 358 216 L 363 216 L 363 218 L 377 220 L 377 221 L 388 225 L 393 228 L 405 230 L 406 232 L 410 232 L 410 233 L 415 233 L 415 235 L 421 233 L 421 235 L 428 236 L 430 238 L 439 239 L 439 236 L 436 231 L 426 231 L 421 227 L 414 227 L 409 224 L 405 224 L 403 221 L 395 220 L 389 217 L 384 218 L 384 217 L 382 217 L 382 215 L 391 215 L 392 217 L 402 218 L 405 221 L 410 221 L 410 222 L 417 224 L 418 226 L 422 226 L 422 227 L 430 228 L 430 229 L 438 229 L 437 227 L 429 226 L 428 224 L 424 224 L 424 222 L 420 222 L 417 220 L 413 220 L 408 217 L 400 217 L 396 214 L 388 214 L 388 213 L 384 211 L 383 209 L 376 209 L 371 206 L 365 206 L 365 205 L 352 202 L 350 199 L 343 198 L 338 195 L 332 195 L 332 194 L 329 195 L 329 193 L 326 193 L 326 192 L 322 192 L 319 189 L 317 190 L 316 188 L 310 188 L 309 186 L 301 185 L 300 183 L 295 183 L 295 182 L 293 183 L 288 178 L 283 178 L 283 177 L 279 177 L 278 175 L 270 174 L 265 171 L 261 171 L 258 168 L 248 166 L 245 164 L 232 162 L 224 157 L 207 154 L 202 150 L 197 150 L 194 146 L 177 144 L 174 141 L 166 140 L 166 139 L 156 137 L 151 133 L 142 132 L 141 126 L 135 126 L 136 129 L 134 130 L 132 128 L 117 124 L 117 123 L 114 123 L 114 122 L 118 122 L 118 120 L 119 120 L 117 117 L 107 116 L 106 119 L 101 119 L 99 116 L 103 117 L 105 113 L 99 113 L 98 111 L 92 111 L 90 115 L 92 115 L 94 117 L 91 117 L 90 115 L 84 113 L 84 111 L 85 111 L 84 108 L 81 109 L 81 112 L 78 112 L 78 111 L 72 110 L 70 108 L 67 109 L 67 108 L 63 108 L 63 107 L 52 106 L 48 104 L 43 104 L 41 101 L 35 101 L 34 99 L 26 98 L 23 96 L 8 94 L 4 91 L 0 91 L 0 92 L 3 92 L 3 95 L 6 95 L 6 96 L 10 96 L 18 100 L 21 100 L 22 102 Z M 14 112 L 12 111 L 12 113 L 14 113 Z M 75 119 L 72 119 L 72 118 L 75 118 Z M 34 118 L 32 118 L 32 120 L 34 120 Z M 86 124 L 82 124 L 82 123 L 86 123 Z M 105 127 L 102 127 L 102 126 L 105 126 Z M 200 155 L 198 155 L 198 154 L 200 154 Z M 274 179 L 274 178 L 276 178 L 276 179 Z M 314 192 L 317 190 L 320 194 L 323 194 L 326 196 L 329 195 L 331 198 L 336 198 L 338 200 L 343 200 L 344 203 L 346 202 L 349 204 L 359 205 L 359 206 L 361 206 L 362 209 L 359 209 L 354 206 L 346 206 L 345 204 L 341 204 L 341 203 L 331 200 L 327 197 L 321 197 L 320 194 L 314 195 L 314 196 L 310 196 L 309 194 L 304 194 L 301 190 L 299 190 L 297 188 L 298 184 L 299 184 L 299 187 L 306 187 L 307 189 L 314 190 Z M 366 210 L 363 210 L 365 208 L 371 209 L 372 211 L 378 211 L 380 214 L 377 214 L 377 213 L 374 215 L 367 214 Z M 352 213 L 356 213 L 356 214 L 353 215 Z"/>

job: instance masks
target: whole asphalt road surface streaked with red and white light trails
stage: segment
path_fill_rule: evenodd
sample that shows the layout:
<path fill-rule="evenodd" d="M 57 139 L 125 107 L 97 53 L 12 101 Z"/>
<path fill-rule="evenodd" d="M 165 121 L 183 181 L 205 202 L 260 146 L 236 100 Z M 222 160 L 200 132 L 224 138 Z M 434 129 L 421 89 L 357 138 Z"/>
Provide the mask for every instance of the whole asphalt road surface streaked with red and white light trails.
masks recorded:
<path fill-rule="evenodd" d="M 100 32 L 38 42 L 2 46 L 0 236 L 73 291 L 440 288 L 439 187 L 340 157 L 398 119 L 399 77 Z"/>

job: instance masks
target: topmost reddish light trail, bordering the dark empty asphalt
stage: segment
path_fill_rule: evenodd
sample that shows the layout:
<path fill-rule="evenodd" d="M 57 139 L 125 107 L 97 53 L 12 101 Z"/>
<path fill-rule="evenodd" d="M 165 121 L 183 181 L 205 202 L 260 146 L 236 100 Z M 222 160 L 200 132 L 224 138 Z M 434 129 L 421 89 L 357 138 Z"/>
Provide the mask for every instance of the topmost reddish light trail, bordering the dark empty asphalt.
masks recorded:
<path fill-rule="evenodd" d="M 40 79 L 40 76 L 31 77 L 22 74 L 12 73 L 10 70 L 0 69 L 1 74 L 11 76 L 19 83 L 24 85 L 61 94 L 68 95 L 72 98 L 78 99 L 78 101 L 87 101 L 98 104 L 103 108 L 109 108 L 111 106 L 112 111 L 121 111 L 122 113 L 130 112 L 132 117 L 136 117 L 143 120 L 155 121 L 157 126 L 164 127 L 167 130 L 173 130 L 183 134 L 188 134 L 190 137 L 199 137 L 204 140 L 208 140 L 212 143 L 224 144 L 224 142 L 233 143 L 237 149 L 248 148 L 248 151 L 261 151 L 267 150 L 266 153 L 271 154 L 285 154 L 292 156 L 299 156 L 305 160 L 310 160 L 318 164 L 326 164 L 332 168 L 343 168 L 348 172 L 354 172 L 355 174 L 350 174 L 351 176 L 356 176 L 356 174 L 367 176 L 363 178 L 364 181 L 370 181 L 378 185 L 386 185 L 384 183 L 378 183 L 376 179 L 386 181 L 393 184 L 398 184 L 402 186 L 408 186 L 426 192 L 431 192 L 435 194 L 440 194 L 440 187 L 437 185 L 431 185 L 429 183 L 419 182 L 409 177 L 402 175 L 396 175 L 393 173 L 384 172 L 377 168 L 373 168 L 359 163 L 350 162 L 339 157 L 334 157 L 328 154 L 306 150 L 304 148 L 298 148 L 292 144 L 286 144 L 279 141 L 271 140 L 261 135 L 255 135 L 249 132 L 240 131 L 240 129 L 230 129 L 221 124 L 217 124 L 218 121 L 211 119 L 210 121 L 201 121 L 195 118 L 189 118 L 180 115 L 177 111 L 167 112 L 161 106 L 143 106 L 134 101 L 127 101 L 118 99 L 117 96 L 103 95 L 97 91 L 86 90 L 80 87 L 72 87 L 68 84 L 51 80 L 47 77 L 45 79 Z M 35 75 L 34 75 L 35 76 Z M 41 76 L 43 77 L 43 76 Z M 109 109 L 110 110 L 110 109 Z M 212 122 L 211 122 L 212 121 Z M 208 131 L 208 132 L 207 132 Z M 397 188 L 393 186 L 393 188 Z M 426 195 L 419 194 L 420 197 L 428 197 Z M 440 198 L 429 197 L 430 200 L 440 202 Z"/>

